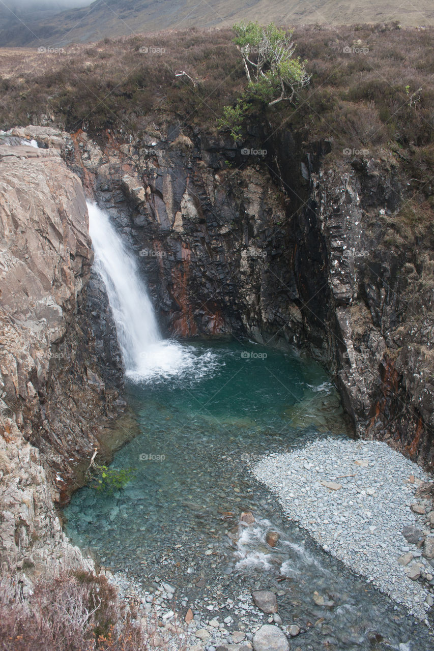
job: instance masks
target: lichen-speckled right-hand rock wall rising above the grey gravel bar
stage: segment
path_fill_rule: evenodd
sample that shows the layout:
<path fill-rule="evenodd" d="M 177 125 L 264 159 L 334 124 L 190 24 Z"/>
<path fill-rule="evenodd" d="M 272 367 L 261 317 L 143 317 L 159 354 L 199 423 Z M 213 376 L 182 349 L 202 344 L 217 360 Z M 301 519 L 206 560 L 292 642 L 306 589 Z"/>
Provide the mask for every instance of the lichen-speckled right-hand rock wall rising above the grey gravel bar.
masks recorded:
<path fill-rule="evenodd" d="M 345 407 L 361 436 L 432 468 L 432 236 L 391 231 L 406 197 L 384 161 L 314 176 L 313 195 L 328 251 L 326 346 Z"/>

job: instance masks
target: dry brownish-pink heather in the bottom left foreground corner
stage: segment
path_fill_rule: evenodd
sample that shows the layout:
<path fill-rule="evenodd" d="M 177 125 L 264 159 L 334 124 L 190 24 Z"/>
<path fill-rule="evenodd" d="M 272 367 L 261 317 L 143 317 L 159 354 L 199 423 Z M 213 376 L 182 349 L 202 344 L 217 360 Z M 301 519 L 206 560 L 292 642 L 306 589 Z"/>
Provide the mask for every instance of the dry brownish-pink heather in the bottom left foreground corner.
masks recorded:
<path fill-rule="evenodd" d="M 151 620 L 143 628 L 102 576 L 40 580 L 27 599 L 15 579 L 0 581 L 1 651 L 149 651 L 157 631 Z"/>

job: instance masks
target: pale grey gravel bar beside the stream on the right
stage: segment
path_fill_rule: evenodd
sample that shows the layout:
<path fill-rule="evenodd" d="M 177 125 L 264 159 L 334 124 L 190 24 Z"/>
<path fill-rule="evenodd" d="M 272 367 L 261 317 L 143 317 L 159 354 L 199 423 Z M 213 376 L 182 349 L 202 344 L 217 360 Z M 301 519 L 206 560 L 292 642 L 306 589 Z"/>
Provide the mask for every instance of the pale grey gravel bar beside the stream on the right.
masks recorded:
<path fill-rule="evenodd" d="M 325 551 L 428 623 L 431 596 L 398 562 L 413 551 L 434 571 L 402 534 L 420 526 L 410 508 L 418 480 L 432 480 L 418 465 L 380 441 L 330 437 L 270 454 L 252 472 Z"/>

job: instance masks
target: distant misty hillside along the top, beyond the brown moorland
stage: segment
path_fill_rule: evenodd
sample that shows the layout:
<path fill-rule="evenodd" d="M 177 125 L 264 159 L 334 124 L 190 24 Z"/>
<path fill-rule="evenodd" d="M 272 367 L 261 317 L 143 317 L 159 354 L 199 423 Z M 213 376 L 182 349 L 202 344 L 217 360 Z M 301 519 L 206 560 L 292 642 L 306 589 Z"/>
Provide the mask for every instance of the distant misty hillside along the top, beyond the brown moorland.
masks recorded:
<path fill-rule="evenodd" d="M 3 23 L 0 46 L 65 46 L 106 36 L 187 27 L 223 27 L 237 20 L 274 21 L 280 25 L 381 23 L 432 25 L 431 0 L 397 6 L 394 0 L 96 0 L 89 7 L 61 12 L 45 20 Z"/>

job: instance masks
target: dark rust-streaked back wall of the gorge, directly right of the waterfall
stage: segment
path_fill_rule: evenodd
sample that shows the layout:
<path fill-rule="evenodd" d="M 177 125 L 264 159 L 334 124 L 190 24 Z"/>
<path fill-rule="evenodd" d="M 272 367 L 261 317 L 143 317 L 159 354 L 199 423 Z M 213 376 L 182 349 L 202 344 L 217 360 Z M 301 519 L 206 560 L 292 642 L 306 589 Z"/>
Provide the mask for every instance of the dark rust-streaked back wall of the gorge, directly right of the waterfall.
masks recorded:
<path fill-rule="evenodd" d="M 238 170 L 242 154 L 230 143 L 203 149 L 199 137 L 196 145 L 172 137 L 164 150 L 149 139 L 94 161 L 84 154 L 85 173 L 74 167 L 94 174 L 98 204 L 136 252 L 162 329 L 298 344 L 296 243 L 272 175 L 259 165 Z M 233 167 L 221 169 L 225 160 Z"/>

